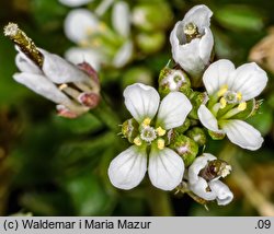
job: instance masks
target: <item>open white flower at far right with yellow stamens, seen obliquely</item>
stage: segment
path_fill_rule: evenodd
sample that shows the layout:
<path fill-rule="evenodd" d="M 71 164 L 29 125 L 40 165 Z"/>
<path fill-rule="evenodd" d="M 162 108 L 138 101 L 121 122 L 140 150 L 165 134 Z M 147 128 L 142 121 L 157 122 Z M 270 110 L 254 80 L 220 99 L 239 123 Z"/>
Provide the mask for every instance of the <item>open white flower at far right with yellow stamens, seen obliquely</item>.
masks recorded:
<path fill-rule="evenodd" d="M 261 133 L 235 116 L 247 108 L 247 101 L 258 96 L 266 85 L 266 73 L 254 62 L 235 68 L 229 60 L 212 63 L 203 75 L 209 102 L 198 108 L 198 118 L 210 131 L 248 150 L 258 150 Z"/>

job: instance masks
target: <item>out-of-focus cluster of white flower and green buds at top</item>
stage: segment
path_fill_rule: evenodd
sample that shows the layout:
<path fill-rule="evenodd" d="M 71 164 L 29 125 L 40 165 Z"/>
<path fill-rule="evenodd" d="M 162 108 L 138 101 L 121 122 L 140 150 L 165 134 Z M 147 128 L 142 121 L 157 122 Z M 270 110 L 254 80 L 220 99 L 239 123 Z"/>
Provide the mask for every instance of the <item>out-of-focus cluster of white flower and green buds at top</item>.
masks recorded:
<path fill-rule="evenodd" d="M 136 1 L 134 5 L 123 0 L 59 2 L 72 8 L 65 19 L 64 31 L 76 46 L 66 51 L 66 59 L 73 63 L 84 59 L 96 70 L 122 68 L 141 54 L 158 51 L 164 45 L 164 31 L 172 20 L 165 0 L 157 4 Z M 134 52 L 135 47 L 138 54 Z"/>

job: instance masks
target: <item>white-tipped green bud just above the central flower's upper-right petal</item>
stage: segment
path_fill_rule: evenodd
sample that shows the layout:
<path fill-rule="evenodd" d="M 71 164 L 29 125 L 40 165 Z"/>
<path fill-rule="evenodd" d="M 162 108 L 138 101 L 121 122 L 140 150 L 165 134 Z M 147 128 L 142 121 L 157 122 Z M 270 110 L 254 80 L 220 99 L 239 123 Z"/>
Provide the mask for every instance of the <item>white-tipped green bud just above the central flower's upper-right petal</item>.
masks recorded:
<path fill-rule="evenodd" d="M 187 96 L 191 92 L 190 79 L 184 71 L 165 67 L 159 75 L 159 93 L 165 96 L 174 91 L 180 91 Z"/>

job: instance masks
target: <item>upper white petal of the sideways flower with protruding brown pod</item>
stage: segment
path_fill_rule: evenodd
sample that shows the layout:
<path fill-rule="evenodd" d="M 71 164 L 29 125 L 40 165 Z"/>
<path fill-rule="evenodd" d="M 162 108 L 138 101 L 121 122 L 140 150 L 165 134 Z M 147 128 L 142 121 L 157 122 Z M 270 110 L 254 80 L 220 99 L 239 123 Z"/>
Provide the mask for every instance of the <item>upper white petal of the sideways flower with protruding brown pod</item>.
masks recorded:
<path fill-rule="evenodd" d="M 44 55 L 43 71 L 54 83 L 89 82 L 90 78 L 61 57 L 41 50 Z"/>

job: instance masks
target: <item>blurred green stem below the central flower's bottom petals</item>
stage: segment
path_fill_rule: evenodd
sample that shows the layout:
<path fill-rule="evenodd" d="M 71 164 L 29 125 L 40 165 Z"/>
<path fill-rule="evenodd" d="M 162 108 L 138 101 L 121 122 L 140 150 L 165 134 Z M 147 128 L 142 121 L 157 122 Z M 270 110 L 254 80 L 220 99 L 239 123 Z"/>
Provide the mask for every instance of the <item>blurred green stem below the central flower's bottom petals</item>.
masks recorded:
<path fill-rule="evenodd" d="M 153 217 L 172 217 L 170 197 L 167 191 L 150 187 L 147 194 L 148 203 Z"/>

